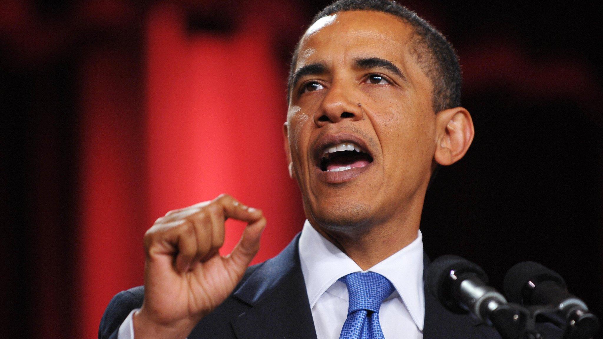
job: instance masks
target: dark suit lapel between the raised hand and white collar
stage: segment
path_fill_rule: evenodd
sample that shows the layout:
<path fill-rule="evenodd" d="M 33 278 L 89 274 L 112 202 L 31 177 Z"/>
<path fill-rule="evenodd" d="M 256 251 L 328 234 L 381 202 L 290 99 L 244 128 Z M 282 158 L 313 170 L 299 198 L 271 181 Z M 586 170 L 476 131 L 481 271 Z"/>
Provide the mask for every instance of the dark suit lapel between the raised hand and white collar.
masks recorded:
<path fill-rule="evenodd" d="M 251 306 L 231 322 L 238 339 L 316 339 L 298 241 L 299 235 L 235 292 L 237 299 Z"/>

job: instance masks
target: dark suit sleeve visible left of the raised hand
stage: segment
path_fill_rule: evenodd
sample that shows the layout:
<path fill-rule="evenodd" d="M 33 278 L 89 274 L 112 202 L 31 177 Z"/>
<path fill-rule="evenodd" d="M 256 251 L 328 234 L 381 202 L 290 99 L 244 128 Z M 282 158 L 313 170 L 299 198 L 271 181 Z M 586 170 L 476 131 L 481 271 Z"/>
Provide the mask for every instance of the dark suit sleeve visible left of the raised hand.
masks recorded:
<path fill-rule="evenodd" d="M 98 328 L 98 338 L 105 339 L 115 334 L 121 323 L 135 308 L 142 306 L 144 286 L 130 288 L 116 294 L 107 305 Z M 115 336 L 116 337 L 116 336 Z"/>

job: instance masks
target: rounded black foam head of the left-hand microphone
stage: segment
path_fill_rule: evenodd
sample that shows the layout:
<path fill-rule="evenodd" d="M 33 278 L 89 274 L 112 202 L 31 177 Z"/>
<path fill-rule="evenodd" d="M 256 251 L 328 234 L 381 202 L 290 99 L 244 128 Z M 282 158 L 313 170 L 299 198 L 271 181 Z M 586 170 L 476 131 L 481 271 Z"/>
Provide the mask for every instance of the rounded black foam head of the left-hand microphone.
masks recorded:
<path fill-rule="evenodd" d="M 484 283 L 488 282 L 488 276 L 477 264 L 456 255 L 443 255 L 429 265 L 425 274 L 425 285 L 431 294 L 449 311 L 467 313 L 453 299 L 452 285 L 455 280 L 450 274 L 451 271 L 454 271 L 456 277 L 467 273 L 475 274 Z"/>

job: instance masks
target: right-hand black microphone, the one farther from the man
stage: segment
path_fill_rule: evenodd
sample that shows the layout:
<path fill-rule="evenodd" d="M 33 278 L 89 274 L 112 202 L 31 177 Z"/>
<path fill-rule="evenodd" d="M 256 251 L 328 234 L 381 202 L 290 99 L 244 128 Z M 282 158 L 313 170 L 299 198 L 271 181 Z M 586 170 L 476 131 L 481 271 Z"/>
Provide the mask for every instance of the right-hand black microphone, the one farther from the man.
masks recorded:
<path fill-rule="evenodd" d="M 599 319 L 581 299 L 569 294 L 565 280 L 555 271 L 533 261 L 520 262 L 505 275 L 505 294 L 524 306 L 551 306 L 560 319 L 549 318 L 565 329 L 567 338 L 587 339 L 599 331 Z"/>

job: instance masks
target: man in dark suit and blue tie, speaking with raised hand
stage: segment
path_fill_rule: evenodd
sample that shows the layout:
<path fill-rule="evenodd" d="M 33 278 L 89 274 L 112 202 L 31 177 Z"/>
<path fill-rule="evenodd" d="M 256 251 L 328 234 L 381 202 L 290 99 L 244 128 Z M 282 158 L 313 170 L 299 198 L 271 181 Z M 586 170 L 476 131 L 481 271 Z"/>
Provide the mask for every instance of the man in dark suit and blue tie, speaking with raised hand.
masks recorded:
<path fill-rule="evenodd" d="M 452 46 L 386 0 L 337 1 L 295 50 L 283 127 L 308 218 L 247 268 L 266 220 L 229 195 L 145 234 L 145 286 L 115 296 L 99 338 L 499 338 L 423 287 L 429 180 L 473 139 Z M 229 256 L 224 221 L 247 221 Z"/>

